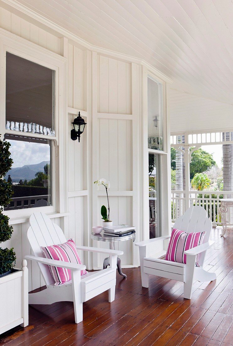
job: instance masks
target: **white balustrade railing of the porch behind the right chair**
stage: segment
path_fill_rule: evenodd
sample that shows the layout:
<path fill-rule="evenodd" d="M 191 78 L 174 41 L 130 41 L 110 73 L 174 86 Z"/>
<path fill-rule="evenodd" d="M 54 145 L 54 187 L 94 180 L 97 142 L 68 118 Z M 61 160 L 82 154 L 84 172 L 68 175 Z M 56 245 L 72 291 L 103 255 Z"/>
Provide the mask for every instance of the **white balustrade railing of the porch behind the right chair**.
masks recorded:
<path fill-rule="evenodd" d="M 213 226 L 221 225 L 219 208 L 222 198 L 233 198 L 233 191 L 189 191 L 189 206 L 205 208 Z M 172 190 L 172 221 L 174 222 L 185 212 L 185 191 Z M 233 208 L 227 208 L 229 226 L 233 225 Z"/>

